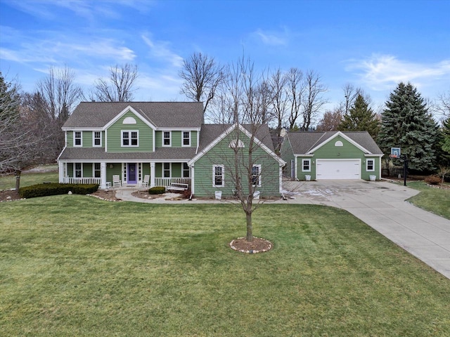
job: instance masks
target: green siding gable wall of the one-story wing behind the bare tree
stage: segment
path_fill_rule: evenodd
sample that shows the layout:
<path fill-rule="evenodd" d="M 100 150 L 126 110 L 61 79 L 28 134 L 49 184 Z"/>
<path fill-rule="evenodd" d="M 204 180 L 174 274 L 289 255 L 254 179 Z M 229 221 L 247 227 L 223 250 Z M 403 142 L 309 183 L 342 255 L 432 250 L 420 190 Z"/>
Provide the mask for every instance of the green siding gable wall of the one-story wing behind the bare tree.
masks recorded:
<path fill-rule="evenodd" d="M 214 146 L 207 154 L 198 159 L 194 164 L 194 179 L 195 192 L 198 197 L 213 197 L 215 191 L 221 191 L 222 196 L 229 197 L 233 194 L 235 183 L 233 179 L 234 173 L 234 151 L 229 147 L 229 143 L 233 137 L 229 136 L 221 140 Z M 249 139 L 240 133 L 240 140 L 243 140 L 245 147 L 240 151 L 240 161 L 248 163 L 248 144 Z M 276 159 L 271 157 L 267 152 L 260 147 L 255 149 L 252 154 L 252 162 L 255 165 L 261 165 L 261 187 L 257 190 L 261 196 L 278 196 L 279 192 L 279 164 Z M 213 187 L 212 185 L 212 166 L 224 165 L 225 177 L 224 187 Z M 245 192 L 248 191 L 245 187 L 248 186 L 247 170 L 241 166 L 240 176 L 243 178 L 242 185 Z"/>

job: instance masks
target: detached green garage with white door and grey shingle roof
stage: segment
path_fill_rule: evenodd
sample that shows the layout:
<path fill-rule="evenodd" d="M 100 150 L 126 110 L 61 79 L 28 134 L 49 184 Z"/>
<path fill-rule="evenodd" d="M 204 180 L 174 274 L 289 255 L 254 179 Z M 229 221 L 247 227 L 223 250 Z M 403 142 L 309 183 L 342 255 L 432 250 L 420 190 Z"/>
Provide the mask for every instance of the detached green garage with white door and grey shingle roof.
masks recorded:
<path fill-rule="evenodd" d="M 366 131 L 289 132 L 281 157 L 296 180 L 381 178 L 383 152 Z"/>

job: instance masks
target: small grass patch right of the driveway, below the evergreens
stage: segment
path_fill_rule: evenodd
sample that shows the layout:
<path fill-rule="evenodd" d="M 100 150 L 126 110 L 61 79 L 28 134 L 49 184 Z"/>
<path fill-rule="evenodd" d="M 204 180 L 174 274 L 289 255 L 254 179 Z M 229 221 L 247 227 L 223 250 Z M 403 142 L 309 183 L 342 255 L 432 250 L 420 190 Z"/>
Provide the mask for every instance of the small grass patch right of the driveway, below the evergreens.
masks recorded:
<path fill-rule="evenodd" d="M 450 219 L 450 190 L 430 187 L 423 181 L 413 181 L 407 185 L 420 191 L 408 199 L 411 204 Z"/>

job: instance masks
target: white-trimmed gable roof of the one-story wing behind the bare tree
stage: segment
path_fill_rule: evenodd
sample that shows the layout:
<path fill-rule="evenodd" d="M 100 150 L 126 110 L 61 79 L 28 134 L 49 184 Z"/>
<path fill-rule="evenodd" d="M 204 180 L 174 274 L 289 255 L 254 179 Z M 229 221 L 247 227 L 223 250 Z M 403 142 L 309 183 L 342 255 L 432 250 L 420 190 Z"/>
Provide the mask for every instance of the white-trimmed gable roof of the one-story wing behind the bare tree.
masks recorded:
<path fill-rule="evenodd" d="M 195 157 L 188 162 L 188 165 L 193 164 L 203 157 L 203 155 L 211 150 L 212 147 L 236 130 L 236 128 L 245 133 L 249 138 L 252 135 L 252 124 L 203 124 L 202 130 L 200 131 L 200 145 L 198 147 L 198 152 Z M 278 157 L 274 152 L 274 144 L 272 143 L 269 126 L 267 124 L 261 124 L 257 127 L 255 143 L 278 161 L 279 164 L 286 164 L 285 161 Z"/>

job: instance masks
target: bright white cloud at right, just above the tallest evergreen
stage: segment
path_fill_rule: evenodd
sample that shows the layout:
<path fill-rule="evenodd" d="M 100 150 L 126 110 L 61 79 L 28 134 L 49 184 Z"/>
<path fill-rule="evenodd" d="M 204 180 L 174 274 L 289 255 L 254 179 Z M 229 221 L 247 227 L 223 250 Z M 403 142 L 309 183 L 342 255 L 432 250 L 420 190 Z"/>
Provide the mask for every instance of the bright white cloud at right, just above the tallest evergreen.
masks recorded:
<path fill-rule="evenodd" d="M 374 91 L 390 89 L 401 81 L 410 81 L 420 88 L 450 78 L 450 60 L 427 64 L 399 60 L 392 55 L 372 55 L 348 63 L 345 70 L 356 72 L 360 81 Z"/>

